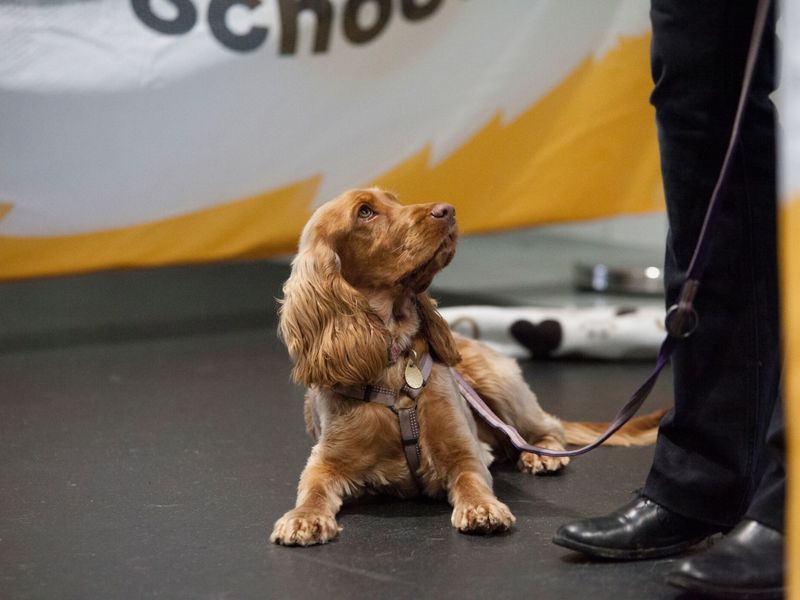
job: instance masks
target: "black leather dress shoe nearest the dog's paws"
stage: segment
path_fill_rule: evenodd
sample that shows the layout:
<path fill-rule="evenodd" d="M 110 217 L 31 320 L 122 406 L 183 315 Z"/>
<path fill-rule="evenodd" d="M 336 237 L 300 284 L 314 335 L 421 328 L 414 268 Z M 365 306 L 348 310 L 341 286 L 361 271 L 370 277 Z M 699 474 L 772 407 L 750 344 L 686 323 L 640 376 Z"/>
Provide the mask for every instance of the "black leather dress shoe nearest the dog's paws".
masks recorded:
<path fill-rule="evenodd" d="M 598 558 L 638 560 L 678 554 L 718 531 L 640 496 L 608 516 L 562 525 L 553 543 Z"/>

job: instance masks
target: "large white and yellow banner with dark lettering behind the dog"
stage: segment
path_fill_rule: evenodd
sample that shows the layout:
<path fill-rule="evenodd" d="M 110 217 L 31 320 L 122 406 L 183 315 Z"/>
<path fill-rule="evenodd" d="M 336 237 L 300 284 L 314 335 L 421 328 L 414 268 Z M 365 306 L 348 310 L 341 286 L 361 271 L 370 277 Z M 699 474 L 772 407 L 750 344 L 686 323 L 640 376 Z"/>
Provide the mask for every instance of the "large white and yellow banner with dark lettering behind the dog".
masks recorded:
<path fill-rule="evenodd" d="M 379 184 L 465 232 L 660 210 L 647 0 L 0 4 L 0 279 L 266 257 Z"/>

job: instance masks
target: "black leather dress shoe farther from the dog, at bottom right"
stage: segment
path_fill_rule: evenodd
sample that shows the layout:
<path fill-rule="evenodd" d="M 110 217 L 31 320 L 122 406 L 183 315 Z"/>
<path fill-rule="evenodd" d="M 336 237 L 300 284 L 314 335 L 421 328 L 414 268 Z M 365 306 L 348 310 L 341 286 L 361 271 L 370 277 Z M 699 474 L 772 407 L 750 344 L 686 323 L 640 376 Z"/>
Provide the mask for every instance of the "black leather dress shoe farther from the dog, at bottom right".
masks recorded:
<path fill-rule="evenodd" d="M 679 563 L 667 582 L 720 598 L 781 598 L 783 541 L 774 529 L 742 521 L 711 548 Z"/>

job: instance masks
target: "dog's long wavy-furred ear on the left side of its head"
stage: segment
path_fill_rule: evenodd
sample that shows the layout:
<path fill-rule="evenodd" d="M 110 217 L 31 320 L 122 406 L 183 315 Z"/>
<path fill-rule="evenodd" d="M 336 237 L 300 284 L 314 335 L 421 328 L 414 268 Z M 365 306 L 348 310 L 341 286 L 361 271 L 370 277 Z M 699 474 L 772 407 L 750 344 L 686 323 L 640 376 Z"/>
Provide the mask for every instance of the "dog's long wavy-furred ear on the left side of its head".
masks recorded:
<path fill-rule="evenodd" d="M 364 295 L 341 276 L 339 257 L 324 243 L 301 248 L 279 313 L 295 382 L 370 383 L 386 368 L 388 332 Z"/>

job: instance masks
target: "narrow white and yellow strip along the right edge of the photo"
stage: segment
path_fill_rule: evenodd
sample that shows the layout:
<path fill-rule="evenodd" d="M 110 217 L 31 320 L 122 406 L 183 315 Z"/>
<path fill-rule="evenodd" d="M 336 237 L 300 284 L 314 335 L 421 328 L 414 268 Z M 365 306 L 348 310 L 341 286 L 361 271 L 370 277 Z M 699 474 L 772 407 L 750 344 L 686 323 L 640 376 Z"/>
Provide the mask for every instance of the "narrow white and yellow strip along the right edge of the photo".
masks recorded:
<path fill-rule="evenodd" d="M 800 6 L 781 6 L 780 225 L 787 423 L 787 598 L 800 600 Z"/>

